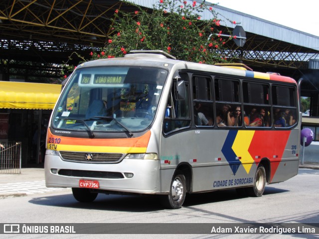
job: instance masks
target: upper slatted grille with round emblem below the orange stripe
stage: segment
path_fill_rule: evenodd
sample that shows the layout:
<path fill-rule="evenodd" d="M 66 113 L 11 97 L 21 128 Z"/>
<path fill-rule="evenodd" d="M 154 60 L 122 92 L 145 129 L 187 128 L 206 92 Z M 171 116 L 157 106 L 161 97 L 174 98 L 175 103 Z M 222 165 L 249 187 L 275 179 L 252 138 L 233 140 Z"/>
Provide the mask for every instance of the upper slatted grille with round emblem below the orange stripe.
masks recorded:
<path fill-rule="evenodd" d="M 60 151 L 60 155 L 65 161 L 81 163 L 116 163 L 123 157 L 123 153 L 83 153 L 67 151 Z"/>

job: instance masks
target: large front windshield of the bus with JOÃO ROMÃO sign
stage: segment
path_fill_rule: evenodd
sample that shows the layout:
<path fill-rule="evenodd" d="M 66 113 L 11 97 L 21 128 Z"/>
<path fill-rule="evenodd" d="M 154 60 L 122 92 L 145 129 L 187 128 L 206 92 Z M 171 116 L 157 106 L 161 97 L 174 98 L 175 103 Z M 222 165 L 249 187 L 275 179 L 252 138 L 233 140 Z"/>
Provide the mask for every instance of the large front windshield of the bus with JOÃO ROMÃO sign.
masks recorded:
<path fill-rule="evenodd" d="M 92 135 L 142 131 L 154 119 L 167 74 L 147 67 L 79 67 L 55 107 L 52 126 Z"/>

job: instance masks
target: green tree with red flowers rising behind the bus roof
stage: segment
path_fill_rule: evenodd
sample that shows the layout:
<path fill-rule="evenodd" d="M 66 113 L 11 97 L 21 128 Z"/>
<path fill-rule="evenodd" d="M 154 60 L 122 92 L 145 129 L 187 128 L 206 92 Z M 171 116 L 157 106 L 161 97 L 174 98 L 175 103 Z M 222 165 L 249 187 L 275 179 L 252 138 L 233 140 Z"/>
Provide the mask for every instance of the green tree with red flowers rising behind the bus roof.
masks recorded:
<path fill-rule="evenodd" d="M 132 3 L 131 3 L 132 4 Z M 131 50 L 163 50 L 179 60 L 214 64 L 226 61 L 219 54 L 226 41 L 236 36 L 227 28 L 223 32 L 213 5 L 185 0 L 158 0 L 152 11 L 136 5 L 134 12 L 115 10 L 111 34 L 100 51 L 91 59 L 123 57 Z M 210 20 L 202 20 L 204 10 Z M 236 24 L 236 22 L 232 22 Z"/>

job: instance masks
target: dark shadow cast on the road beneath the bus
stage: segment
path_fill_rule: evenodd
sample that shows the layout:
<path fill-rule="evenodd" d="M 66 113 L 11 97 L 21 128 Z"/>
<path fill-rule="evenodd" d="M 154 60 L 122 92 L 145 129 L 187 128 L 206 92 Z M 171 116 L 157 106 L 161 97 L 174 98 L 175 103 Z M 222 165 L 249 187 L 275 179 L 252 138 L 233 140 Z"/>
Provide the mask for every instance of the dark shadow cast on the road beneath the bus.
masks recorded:
<path fill-rule="evenodd" d="M 274 187 L 266 187 L 264 195 L 284 193 L 287 190 Z M 246 196 L 237 194 L 235 189 L 220 190 L 209 193 L 198 193 L 186 195 L 183 207 L 195 205 L 215 203 L 230 200 L 245 200 Z M 152 212 L 164 210 L 160 204 L 158 196 L 142 195 L 142 196 L 124 196 L 124 195 L 105 195 L 99 194 L 96 200 L 92 203 L 79 203 L 72 194 L 64 194 L 57 196 L 36 197 L 29 201 L 32 204 L 53 206 L 53 207 L 68 207 L 90 210 L 110 210 L 110 211 L 125 211 L 125 212 Z"/>

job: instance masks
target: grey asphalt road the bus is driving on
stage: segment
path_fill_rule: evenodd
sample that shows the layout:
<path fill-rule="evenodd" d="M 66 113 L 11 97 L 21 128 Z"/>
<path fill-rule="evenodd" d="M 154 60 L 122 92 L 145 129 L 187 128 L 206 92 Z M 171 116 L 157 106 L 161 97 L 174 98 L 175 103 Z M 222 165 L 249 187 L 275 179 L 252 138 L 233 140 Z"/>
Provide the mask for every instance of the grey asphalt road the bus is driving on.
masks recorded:
<path fill-rule="evenodd" d="M 187 195 L 184 206 L 166 210 L 150 196 L 99 194 L 78 203 L 71 191 L 0 200 L 0 223 L 319 223 L 319 170 L 299 169 L 290 180 L 268 185 L 262 197 L 241 197 L 235 190 Z M 143 231 L 143 228 L 141 229 Z M 3 235 L 0 235 L 0 237 Z M 6 235 L 5 235 L 6 236 Z M 42 238 L 43 235 L 31 235 Z M 57 235 L 51 235 L 56 238 Z M 63 238 L 109 238 L 110 235 L 63 235 Z M 156 235 L 157 238 L 312 238 L 313 235 Z M 50 237 L 50 235 L 46 235 Z M 62 235 L 60 235 L 62 237 Z M 112 235 L 112 238 L 150 238 Z M 30 235 L 18 235 L 30 238 Z"/>

